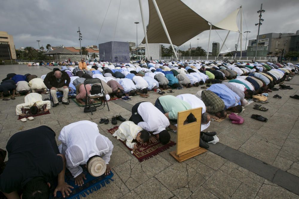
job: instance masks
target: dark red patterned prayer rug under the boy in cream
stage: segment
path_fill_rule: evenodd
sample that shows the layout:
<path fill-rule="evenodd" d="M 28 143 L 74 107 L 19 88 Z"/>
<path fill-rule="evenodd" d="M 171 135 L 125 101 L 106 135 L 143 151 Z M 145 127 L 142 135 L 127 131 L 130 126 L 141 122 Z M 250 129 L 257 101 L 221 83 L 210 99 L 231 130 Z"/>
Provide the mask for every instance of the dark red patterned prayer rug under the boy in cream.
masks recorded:
<path fill-rule="evenodd" d="M 108 129 L 108 132 L 113 134 L 118 129 L 118 126 Z M 115 138 L 116 139 L 116 138 Z M 126 142 L 119 140 L 122 142 L 126 147 Z M 156 143 L 147 143 L 147 145 L 143 146 L 139 143 L 137 143 L 138 148 L 137 149 L 130 149 L 127 147 L 131 153 L 138 159 L 139 162 L 142 162 L 144 160 L 148 160 L 149 158 L 152 158 L 155 155 L 158 155 L 159 153 L 167 150 L 170 148 L 170 146 L 176 145 L 175 142 L 169 141 L 168 144 L 161 144 L 159 141 Z"/>

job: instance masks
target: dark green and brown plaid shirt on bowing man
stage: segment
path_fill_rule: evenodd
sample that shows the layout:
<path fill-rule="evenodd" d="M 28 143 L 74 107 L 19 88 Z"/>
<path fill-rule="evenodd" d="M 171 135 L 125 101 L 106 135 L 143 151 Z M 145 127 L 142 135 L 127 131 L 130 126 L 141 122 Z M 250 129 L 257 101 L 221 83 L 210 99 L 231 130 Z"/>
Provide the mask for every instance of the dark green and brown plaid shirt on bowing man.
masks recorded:
<path fill-rule="evenodd" d="M 224 110 L 224 101 L 210 90 L 202 91 L 202 101 L 206 105 L 206 112 L 216 113 Z"/>

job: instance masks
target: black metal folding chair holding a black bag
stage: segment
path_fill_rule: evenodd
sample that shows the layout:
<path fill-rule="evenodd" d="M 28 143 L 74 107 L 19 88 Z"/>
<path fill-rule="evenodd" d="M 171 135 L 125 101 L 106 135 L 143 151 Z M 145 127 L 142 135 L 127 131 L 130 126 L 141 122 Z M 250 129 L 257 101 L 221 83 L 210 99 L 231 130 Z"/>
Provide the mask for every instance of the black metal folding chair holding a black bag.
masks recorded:
<path fill-rule="evenodd" d="M 100 83 L 101 84 L 101 87 L 102 87 L 102 94 L 103 96 L 90 96 L 90 91 L 87 92 L 86 90 L 86 84 L 96 84 L 96 83 Z M 103 104 L 103 101 L 104 101 L 104 104 L 103 104 L 103 108 L 105 107 L 105 102 L 107 104 L 107 107 L 108 107 L 108 111 L 110 111 L 109 109 L 109 106 L 108 106 L 108 102 L 106 100 L 106 94 L 105 94 L 105 91 L 103 90 L 103 84 L 102 84 L 102 81 L 99 79 L 99 78 L 92 78 L 92 79 L 86 79 L 84 80 L 84 88 L 85 88 L 85 91 L 86 91 L 86 96 L 85 96 L 85 99 L 86 99 L 86 102 L 85 102 L 85 108 L 87 107 L 87 103 L 89 105 L 89 109 L 90 109 L 90 112 L 91 112 L 91 115 L 93 115 L 92 113 L 92 110 L 91 110 L 91 104 L 94 106 L 93 103 L 90 102 L 90 99 L 95 99 L 95 98 L 101 98 L 101 104 L 100 105 L 97 105 L 97 106 L 94 106 L 94 107 L 100 107 L 102 106 Z"/>

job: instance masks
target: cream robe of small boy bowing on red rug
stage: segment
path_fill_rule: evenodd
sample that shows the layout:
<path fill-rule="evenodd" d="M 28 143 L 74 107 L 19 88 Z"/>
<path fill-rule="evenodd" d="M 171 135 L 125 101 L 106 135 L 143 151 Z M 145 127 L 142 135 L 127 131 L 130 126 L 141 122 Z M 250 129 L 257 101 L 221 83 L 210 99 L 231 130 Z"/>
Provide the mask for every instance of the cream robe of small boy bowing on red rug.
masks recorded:
<path fill-rule="evenodd" d="M 118 127 L 118 130 L 113 133 L 112 136 L 116 137 L 119 140 L 125 141 L 126 145 L 130 149 L 134 149 L 135 142 L 132 142 L 136 139 L 137 134 L 143 129 L 138 125 L 134 124 L 132 121 L 125 121 L 121 123 Z"/>

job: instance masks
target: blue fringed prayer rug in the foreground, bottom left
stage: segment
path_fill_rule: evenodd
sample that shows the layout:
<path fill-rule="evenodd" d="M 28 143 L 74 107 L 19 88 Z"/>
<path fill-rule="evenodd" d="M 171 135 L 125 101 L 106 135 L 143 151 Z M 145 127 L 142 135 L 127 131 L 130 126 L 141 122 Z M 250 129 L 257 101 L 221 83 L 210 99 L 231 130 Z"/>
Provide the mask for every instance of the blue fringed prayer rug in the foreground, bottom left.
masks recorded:
<path fill-rule="evenodd" d="M 80 165 L 81 166 L 81 165 Z M 91 194 L 94 191 L 99 190 L 101 187 L 105 187 L 106 184 L 110 184 L 110 181 L 114 181 L 112 179 L 113 173 L 110 171 L 109 175 L 101 175 L 100 177 L 93 177 L 91 176 L 85 166 L 81 166 L 83 169 L 83 173 L 86 175 L 86 180 L 84 180 L 83 186 L 77 186 L 75 185 L 75 179 L 73 178 L 71 172 L 68 169 L 65 169 L 65 182 L 69 185 L 73 186 L 74 189 L 71 189 L 71 193 L 68 197 L 68 199 L 80 199 L 83 197 L 86 197 L 87 195 Z M 63 196 L 61 192 L 57 192 L 57 196 L 54 197 L 54 190 L 57 186 L 57 180 L 53 180 L 51 183 L 51 190 L 50 190 L 50 197 L 49 199 L 62 199 Z"/>

